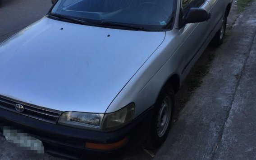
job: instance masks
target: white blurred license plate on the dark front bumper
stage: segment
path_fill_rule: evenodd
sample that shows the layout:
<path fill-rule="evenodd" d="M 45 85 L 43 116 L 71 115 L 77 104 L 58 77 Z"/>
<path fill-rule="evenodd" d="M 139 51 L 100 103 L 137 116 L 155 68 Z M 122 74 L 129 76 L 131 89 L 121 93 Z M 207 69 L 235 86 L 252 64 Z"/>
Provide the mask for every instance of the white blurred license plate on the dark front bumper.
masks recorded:
<path fill-rule="evenodd" d="M 5 139 L 22 147 L 25 150 L 35 151 L 36 153 L 44 153 L 43 143 L 34 137 L 29 136 L 27 133 L 22 133 L 20 130 L 13 130 L 11 127 L 3 127 L 3 134 Z"/>

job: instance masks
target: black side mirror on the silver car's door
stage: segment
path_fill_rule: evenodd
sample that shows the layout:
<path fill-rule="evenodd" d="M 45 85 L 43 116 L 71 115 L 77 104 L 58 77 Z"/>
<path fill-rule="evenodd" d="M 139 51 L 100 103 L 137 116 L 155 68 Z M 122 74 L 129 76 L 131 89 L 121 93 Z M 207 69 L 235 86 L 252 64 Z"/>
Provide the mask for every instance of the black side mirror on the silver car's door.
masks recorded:
<path fill-rule="evenodd" d="M 205 22 L 210 19 L 210 13 L 208 13 L 205 9 L 201 8 L 191 8 L 187 12 L 185 17 L 185 24 L 187 23 L 198 23 Z"/>

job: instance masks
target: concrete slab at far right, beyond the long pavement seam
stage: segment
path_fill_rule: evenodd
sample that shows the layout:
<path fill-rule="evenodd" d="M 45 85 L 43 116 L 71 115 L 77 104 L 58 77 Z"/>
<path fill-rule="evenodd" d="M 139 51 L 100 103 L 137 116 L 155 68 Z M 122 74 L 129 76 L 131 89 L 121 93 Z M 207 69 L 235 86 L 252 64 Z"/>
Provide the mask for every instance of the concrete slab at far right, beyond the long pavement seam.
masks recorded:
<path fill-rule="evenodd" d="M 251 9 L 254 14 L 247 11 L 246 16 L 244 13 L 240 17 L 244 23 L 240 25 L 251 30 L 249 36 L 254 37 L 254 41 L 248 48 L 249 55 L 216 151 L 215 158 L 218 160 L 256 159 L 256 3 Z"/>

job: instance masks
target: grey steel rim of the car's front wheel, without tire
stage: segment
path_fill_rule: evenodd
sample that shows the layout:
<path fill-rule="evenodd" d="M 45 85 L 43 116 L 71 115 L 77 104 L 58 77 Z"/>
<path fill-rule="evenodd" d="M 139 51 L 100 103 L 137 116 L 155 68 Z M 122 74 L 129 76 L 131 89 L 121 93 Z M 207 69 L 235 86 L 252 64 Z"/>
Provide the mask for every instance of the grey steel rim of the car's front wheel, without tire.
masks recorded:
<path fill-rule="evenodd" d="M 166 96 L 161 104 L 161 108 L 157 118 L 157 136 L 163 137 L 166 133 L 169 120 L 172 114 L 172 101 L 170 96 Z"/>

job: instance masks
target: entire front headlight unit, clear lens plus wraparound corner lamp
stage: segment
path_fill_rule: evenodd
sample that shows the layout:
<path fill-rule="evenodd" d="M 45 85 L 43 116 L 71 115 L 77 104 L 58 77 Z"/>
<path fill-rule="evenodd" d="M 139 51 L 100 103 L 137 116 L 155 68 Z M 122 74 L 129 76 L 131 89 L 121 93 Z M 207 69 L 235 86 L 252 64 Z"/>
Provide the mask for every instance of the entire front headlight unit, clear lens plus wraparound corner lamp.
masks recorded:
<path fill-rule="evenodd" d="M 128 124 L 133 119 L 135 105 L 128 106 L 113 113 L 96 114 L 85 112 L 63 112 L 58 123 L 89 130 L 112 131 Z"/>

